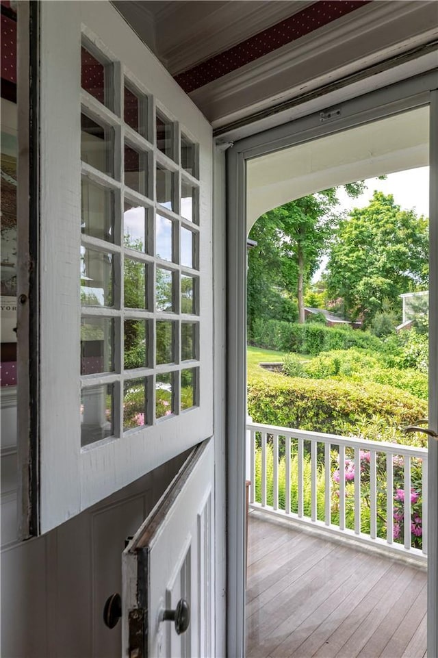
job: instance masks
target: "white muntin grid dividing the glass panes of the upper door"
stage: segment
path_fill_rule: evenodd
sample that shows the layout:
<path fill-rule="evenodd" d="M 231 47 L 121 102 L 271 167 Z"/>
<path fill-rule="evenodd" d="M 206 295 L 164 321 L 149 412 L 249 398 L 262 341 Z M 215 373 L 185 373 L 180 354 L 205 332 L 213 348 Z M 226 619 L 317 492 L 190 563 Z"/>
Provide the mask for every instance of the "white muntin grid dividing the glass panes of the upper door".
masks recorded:
<path fill-rule="evenodd" d="M 164 422 L 164 418 L 156 418 L 155 393 L 157 377 L 170 375 L 172 395 L 172 415 L 183 413 L 181 409 L 181 372 L 191 370 L 194 405 L 199 401 L 199 250 L 200 250 L 200 226 L 199 226 L 199 181 L 195 175 L 185 170 L 181 164 L 181 145 L 190 149 L 192 147 L 194 174 L 198 175 L 198 146 L 190 142 L 190 137 L 183 132 L 181 142 L 181 129 L 177 121 L 172 121 L 171 114 L 166 108 L 159 105 L 146 88 L 130 75 L 120 62 L 111 61 L 108 55 L 96 48 L 85 36 L 83 47 L 92 54 L 105 68 L 105 104 L 97 100 L 90 92 L 81 89 L 81 113 L 94 121 L 105 131 L 105 143 L 100 146 L 105 149 L 105 172 L 81 160 L 81 175 L 84 181 L 97 184 L 105 190 L 112 192 L 113 221 L 109 239 L 103 239 L 81 234 L 82 248 L 92 249 L 112 257 L 112 282 L 108 281 L 108 288 L 112 291 L 112 305 L 82 305 L 81 318 L 101 318 L 114 320 L 114 337 L 105 339 L 107 344 L 112 342 L 112 366 L 111 372 L 82 375 L 81 390 L 92 393 L 91 387 L 101 385 L 112 385 L 112 425 L 113 433 L 111 439 L 120 438 L 135 429 L 124 431 L 124 388 L 127 382 L 142 379 L 144 381 L 144 393 L 146 404 L 144 408 L 144 420 L 146 426 Z M 139 129 L 140 132 L 127 125 L 124 120 L 125 86 L 139 99 Z M 114 109 L 114 111 L 113 111 Z M 171 151 L 172 157 L 163 153 L 157 144 L 157 116 L 171 126 Z M 141 134 L 140 134 L 141 133 Z M 140 185 L 133 189 L 125 185 L 125 147 L 129 147 L 139 154 L 140 169 L 144 166 L 144 173 L 139 175 Z M 96 164 L 96 162 L 94 162 Z M 159 203 L 157 197 L 157 171 L 165 172 L 163 177 L 171 179 L 171 192 L 168 199 L 171 203 L 166 207 Z M 183 211 L 181 203 L 181 187 L 190 191 L 192 198 L 192 220 L 181 214 Z M 168 197 L 166 197 L 167 199 Z M 123 211 L 125 203 L 133 207 L 144 207 L 144 251 L 129 248 L 125 245 Z M 165 260 L 157 255 L 156 249 L 156 224 L 157 215 L 170 220 L 172 227 L 172 260 Z M 188 232 L 190 231 L 190 233 Z M 190 240 L 191 238 L 191 240 Z M 185 244 L 192 242 L 190 263 L 181 263 L 181 240 Z M 146 291 L 144 308 L 134 309 L 125 307 L 125 261 L 127 259 L 136 264 L 144 264 Z M 170 306 L 171 310 L 163 310 L 157 304 L 157 273 L 160 276 L 172 277 Z M 191 279 L 191 283 L 190 283 Z M 181 286 L 183 284 L 183 286 Z M 192 301 L 190 294 L 184 299 L 181 288 L 192 288 Z M 188 309 L 188 303 L 192 303 L 192 309 Z M 125 370 L 124 368 L 124 336 L 125 320 L 140 320 L 145 322 L 146 337 L 146 359 L 141 368 Z M 173 358 L 170 363 L 157 363 L 157 323 L 169 322 L 172 327 L 172 352 Z M 195 358 L 183 361 L 181 358 L 181 336 L 182 326 L 192 326 L 192 340 L 194 349 L 192 355 Z M 164 325 L 161 325 L 162 328 Z M 79 366 L 79 364 L 78 364 Z M 107 438 L 90 442 L 90 446 L 96 446 Z M 88 447 L 88 446 L 87 446 Z"/>

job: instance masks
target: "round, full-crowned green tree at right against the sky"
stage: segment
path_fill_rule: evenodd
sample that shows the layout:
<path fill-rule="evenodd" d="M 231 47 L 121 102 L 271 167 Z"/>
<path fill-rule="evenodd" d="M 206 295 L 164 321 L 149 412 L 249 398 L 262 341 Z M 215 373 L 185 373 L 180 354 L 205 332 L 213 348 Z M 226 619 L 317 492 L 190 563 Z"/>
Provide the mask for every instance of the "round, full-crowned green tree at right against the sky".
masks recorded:
<path fill-rule="evenodd" d="M 342 298 L 347 317 L 365 324 L 389 301 L 427 286 L 428 220 L 400 210 L 392 194 L 374 192 L 367 207 L 339 223 L 327 264 L 329 299 Z"/>

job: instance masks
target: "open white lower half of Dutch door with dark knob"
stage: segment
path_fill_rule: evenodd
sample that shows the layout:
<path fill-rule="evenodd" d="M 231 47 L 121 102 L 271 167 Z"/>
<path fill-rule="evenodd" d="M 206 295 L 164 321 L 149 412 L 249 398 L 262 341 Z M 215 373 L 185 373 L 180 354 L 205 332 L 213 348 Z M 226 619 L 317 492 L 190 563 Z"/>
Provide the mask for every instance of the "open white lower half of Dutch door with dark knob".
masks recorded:
<path fill-rule="evenodd" d="M 123 553 L 123 656 L 214 655 L 214 445 L 188 461 Z M 181 634 L 165 611 L 190 607 Z"/>

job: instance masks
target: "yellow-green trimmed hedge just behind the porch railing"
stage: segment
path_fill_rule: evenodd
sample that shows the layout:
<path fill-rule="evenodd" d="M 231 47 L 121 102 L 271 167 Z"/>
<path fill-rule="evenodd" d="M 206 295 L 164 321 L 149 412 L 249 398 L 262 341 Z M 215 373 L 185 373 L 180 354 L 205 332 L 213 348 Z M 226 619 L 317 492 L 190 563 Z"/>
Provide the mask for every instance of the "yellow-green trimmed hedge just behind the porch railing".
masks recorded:
<path fill-rule="evenodd" d="M 427 415 L 427 403 L 374 382 L 272 375 L 248 381 L 248 414 L 267 425 L 345 434 L 376 416 L 392 427 L 413 423 Z"/>

